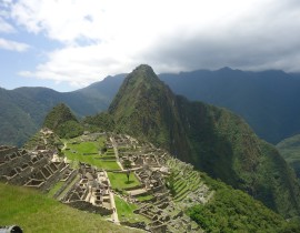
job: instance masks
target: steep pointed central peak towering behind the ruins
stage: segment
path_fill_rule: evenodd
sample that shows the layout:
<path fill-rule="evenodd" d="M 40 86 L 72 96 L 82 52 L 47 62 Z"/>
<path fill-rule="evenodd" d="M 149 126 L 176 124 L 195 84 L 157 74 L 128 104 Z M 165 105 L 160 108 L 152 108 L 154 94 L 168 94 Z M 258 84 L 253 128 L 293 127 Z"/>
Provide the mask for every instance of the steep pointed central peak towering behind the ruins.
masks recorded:
<path fill-rule="evenodd" d="M 109 107 L 117 122 L 117 130 L 139 138 L 154 141 L 157 145 L 168 148 L 176 153 L 187 148 L 180 115 L 171 90 L 148 65 L 140 65 L 130 73 Z M 182 138 L 182 139 L 181 139 Z M 181 141 L 180 144 L 173 142 Z M 179 153 L 181 154 L 181 153 Z"/>

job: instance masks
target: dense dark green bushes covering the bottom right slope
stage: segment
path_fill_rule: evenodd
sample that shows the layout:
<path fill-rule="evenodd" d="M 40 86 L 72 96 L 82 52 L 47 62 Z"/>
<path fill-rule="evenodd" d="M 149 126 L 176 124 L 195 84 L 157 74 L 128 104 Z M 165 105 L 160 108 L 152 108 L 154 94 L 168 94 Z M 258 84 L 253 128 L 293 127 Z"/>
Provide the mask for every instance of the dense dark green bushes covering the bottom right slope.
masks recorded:
<path fill-rule="evenodd" d="M 248 194 L 201 174 L 206 183 L 216 190 L 213 199 L 204 205 L 196 205 L 188 214 L 206 232 L 289 232 L 300 230 L 296 222 L 267 209 Z"/>

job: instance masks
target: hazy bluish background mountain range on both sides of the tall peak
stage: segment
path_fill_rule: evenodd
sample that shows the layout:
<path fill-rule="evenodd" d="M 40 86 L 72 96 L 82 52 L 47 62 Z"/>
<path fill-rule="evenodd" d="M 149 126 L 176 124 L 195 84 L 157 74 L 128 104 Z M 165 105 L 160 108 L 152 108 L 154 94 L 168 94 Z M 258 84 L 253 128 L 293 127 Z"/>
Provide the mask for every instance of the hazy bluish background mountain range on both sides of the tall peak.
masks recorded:
<path fill-rule="evenodd" d="M 39 129 L 47 112 L 67 103 L 77 116 L 107 110 L 126 74 L 108 77 L 73 92 L 46 88 L 0 89 L 1 143 L 19 144 Z M 300 133 L 300 79 L 283 71 L 246 72 L 223 68 L 160 74 L 174 93 L 224 107 L 271 143 Z M 12 120 L 13 119 L 13 120 Z M 9 135 L 9 136 L 8 136 Z"/>

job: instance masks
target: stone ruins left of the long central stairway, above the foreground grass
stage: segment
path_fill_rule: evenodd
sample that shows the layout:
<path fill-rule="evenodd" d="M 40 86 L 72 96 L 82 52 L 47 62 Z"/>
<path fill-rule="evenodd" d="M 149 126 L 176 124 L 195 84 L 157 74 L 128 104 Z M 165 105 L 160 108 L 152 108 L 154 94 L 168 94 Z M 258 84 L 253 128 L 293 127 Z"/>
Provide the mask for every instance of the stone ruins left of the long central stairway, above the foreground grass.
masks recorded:
<path fill-rule="evenodd" d="M 79 170 L 73 170 L 48 150 L 28 152 L 14 146 L 1 145 L 0 181 L 42 192 L 48 192 L 61 181 L 64 184 L 53 197 L 79 210 L 101 215 L 112 213 L 110 183 L 106 172 L 87 164 L 81 164 Z"/>

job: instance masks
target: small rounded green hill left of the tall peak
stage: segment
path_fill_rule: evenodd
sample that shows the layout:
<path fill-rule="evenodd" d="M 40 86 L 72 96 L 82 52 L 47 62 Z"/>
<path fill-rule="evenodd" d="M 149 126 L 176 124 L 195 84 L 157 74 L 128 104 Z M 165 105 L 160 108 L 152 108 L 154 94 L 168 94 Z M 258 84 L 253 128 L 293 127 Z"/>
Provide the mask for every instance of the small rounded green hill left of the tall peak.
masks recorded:
<path fill-rule="evenodd" d="M 43 126 L 53 130 L 60 138 L 74 138 L 83 133 L 83 128 L 63 103 L 56 105 L 47 114 Z"/>

